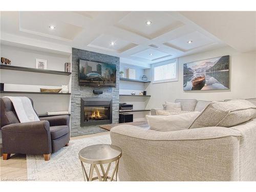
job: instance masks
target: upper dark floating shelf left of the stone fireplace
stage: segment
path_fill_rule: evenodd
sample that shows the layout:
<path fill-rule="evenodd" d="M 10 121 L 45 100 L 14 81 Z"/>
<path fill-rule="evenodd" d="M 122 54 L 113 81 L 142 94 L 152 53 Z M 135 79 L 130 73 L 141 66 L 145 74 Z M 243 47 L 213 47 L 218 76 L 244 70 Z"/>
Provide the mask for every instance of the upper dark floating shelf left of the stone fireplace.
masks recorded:
<path fill-rule="evenodd" d="M 71 75 L 70 72 L 64 72 L 64 71 L 34 69 L 34 68 L 9 66 L 9 65 L 0 65 L 0 69 L 15 70 L 15 71 L 27 71 L 27 72 L 34 72 L 34 73 L 47 73 L 47 74 L 54 74 L 54 75 Z"/>

